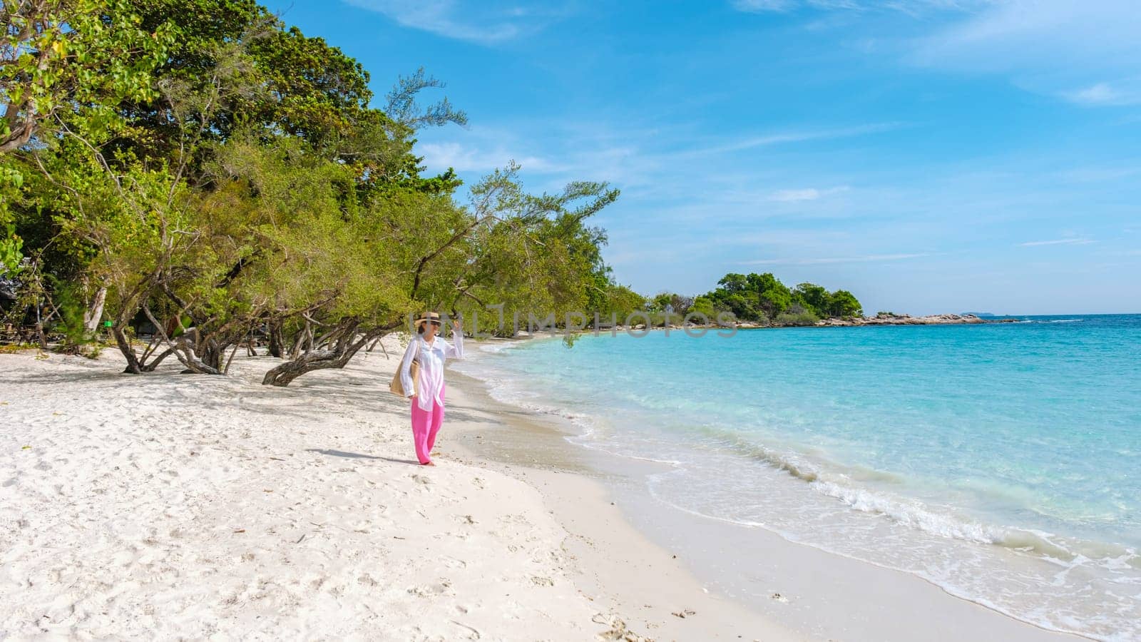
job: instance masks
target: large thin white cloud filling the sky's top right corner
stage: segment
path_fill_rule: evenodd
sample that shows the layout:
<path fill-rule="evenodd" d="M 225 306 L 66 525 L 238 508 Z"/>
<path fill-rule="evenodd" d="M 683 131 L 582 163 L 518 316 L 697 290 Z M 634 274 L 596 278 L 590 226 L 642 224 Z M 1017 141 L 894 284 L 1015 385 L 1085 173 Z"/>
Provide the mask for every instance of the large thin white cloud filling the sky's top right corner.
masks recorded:
<path fill-rule="evenodd" d="M 859 38 L 851 46 L 865 54 L 899 47 L 913 65 L 1003 74 L 1015 87 L 1077 105 L 1141 104 L 1138 0 L 731 0 L 731 6 L 754 14 L 814 10 L 843 22 L 809 26 L 849 30 L 856 19 L 874 24 L 877 15 L 903 14 L 916 18 L 911 37 Z M 931 19 L 937 15 L 938 22 Z M 930 24 L 942 26 L 923 33 Z M 900 32 L 897 23 L 891 29 Z"/>

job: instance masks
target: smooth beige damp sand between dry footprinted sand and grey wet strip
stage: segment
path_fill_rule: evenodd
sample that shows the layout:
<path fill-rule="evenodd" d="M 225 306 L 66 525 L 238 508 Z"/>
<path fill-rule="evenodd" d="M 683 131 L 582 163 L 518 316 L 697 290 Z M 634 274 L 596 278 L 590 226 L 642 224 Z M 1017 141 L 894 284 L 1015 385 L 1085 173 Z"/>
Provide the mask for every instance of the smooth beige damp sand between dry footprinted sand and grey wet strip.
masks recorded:
<path fill-rule="evenodd" d="M 566 443 L 566 433 L 495 401 L 476 378 L 455 370 L 448 376 L 448 411 L 464 417 L 445 420 L 458 431 L 450 435 L 451 448 L 461 462 L 540 492 L 567 531 L 564 549 L 580 562 L 580 591 L 620 613 L 631 632 L 655 640 L 814 639 L 706 587 L 683 555 L 636 528 L 624 499 L 606 483 L 614 473 L 598 470 L 589 454 Z"/>

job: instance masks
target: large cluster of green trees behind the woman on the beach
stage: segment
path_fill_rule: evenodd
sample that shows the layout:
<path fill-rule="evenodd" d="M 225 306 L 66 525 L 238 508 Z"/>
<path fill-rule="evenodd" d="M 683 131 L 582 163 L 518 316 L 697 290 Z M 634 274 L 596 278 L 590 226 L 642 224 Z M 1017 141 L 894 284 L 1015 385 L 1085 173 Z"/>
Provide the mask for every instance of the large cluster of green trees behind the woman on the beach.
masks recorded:
<path fill-rule="evenodd" d="M 374 101 L 362 65 L 251 0 L 3 3 L 5 321 L 75 350 L 108 330 L 132 374 L 167 359 L 264 383 L 341 368 L 408 316 L 624 319 L 590 219 L 606 183 L 528 193 L 513 163 L 459 193 L 416 131 L 463 126 L 415 70 Z M 13 281 L 14 283 L 16 281 Z M 488 310 L 488 307 L 496 310 Z"/>

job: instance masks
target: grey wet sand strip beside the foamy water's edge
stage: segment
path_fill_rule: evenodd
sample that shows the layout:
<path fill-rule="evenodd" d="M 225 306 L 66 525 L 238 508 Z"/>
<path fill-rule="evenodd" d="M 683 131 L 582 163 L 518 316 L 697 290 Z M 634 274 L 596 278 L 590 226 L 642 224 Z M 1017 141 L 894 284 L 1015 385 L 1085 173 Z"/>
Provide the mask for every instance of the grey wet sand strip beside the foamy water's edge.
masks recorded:
<path fill-rule="evenodd" d="M 573 516 L 559 508 L 567 505 L 568 493 L 550 478 L 588 474 L 606 487 L 607 497 L 615 501 L 629 525 L 682 560 L 685 571 L 703 592 L 761 615 L 793 635 L 811 640 L 884 641 L 1086 639 L 1008 616 L 907 571 L 792 541 L 764 528 L 720 522 L 663 505 L 639 487 L 644 485 L 645 474 L 665 466 L 573 444 L 566 438 L 576 433 L 569 425 L 560 425 L 564 422 L 559 417 L 499 402 L 491 398 L 485 382 L 454 370 L 450 375 L 451 385 L 460 388 L 466 407 L 493 408 L 507 417 L 505 435 L 496 439 L 463 435 L 464 449 L 499 462 L 508 474 L 518 475 L 519 471 L 512 467 L 523 466 L 525 474 L 519 479 L 524 481 L 540 479 L 545 503 L 556 506 L 556 517 L 568 530 L 573 531 L 568 523 L 573 523 Z M 519 448 L 520 441 L 533 439 L 542 444 L 537 454 Z M 575 462 L 569 472 L 542 470 L 566 459 Z M 583 465 L 588 468 L 585 473 Z M 739 564 L 727 563 L 718 549 L 752 554 L 737 555 Z M 741 564 L 746 568 L 743 570 Z M 726 579 L 734 573 L 761 577 L 766 589 L 748 593 L 747 585 L 755 581 Z"/>

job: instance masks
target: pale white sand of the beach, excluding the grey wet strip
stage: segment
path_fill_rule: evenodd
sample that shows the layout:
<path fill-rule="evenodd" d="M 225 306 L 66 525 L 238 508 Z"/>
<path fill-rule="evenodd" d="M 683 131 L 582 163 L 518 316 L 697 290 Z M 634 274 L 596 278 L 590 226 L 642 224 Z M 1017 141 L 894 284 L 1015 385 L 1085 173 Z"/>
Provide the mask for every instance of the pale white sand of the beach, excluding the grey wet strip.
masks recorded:
<path fill-rule="evenodd" d="M 450 455 L 453 419 L 438 466 L 414 463 L 395 359 L 289 388 L 258 383 L 268 361 L 0 355 L 0 639 L 617 639 L 639 602 L 645 635 L 791 637 L 678 564 L 580 591 L 572 536 L 531 485 Z M 613 532 L 626 560 L 665 556 Z"/>

